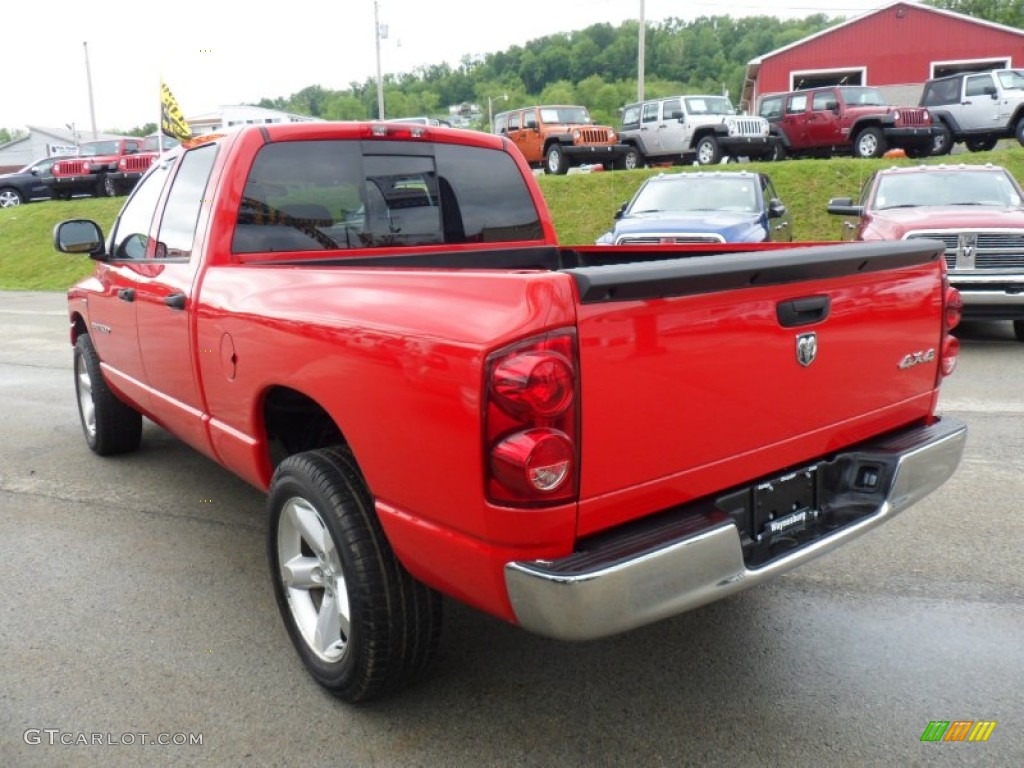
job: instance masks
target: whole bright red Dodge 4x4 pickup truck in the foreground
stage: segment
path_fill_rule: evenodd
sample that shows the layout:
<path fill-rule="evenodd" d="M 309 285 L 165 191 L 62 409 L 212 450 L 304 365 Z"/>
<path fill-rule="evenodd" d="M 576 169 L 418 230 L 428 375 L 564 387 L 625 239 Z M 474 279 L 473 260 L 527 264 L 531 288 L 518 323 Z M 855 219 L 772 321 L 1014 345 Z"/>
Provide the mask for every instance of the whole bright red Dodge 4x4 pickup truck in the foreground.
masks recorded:
<path fill-rule="evenodd" d="M 425 670 L 442 594 L 623 632 L 890 519 L 966 440 L 940 243 L 563 247 L 501 136 L 246 128 L 54 242 L 96 260 L 87 443 L 145 416 L 266 489 L 281 613 L 350 701 Z"/>

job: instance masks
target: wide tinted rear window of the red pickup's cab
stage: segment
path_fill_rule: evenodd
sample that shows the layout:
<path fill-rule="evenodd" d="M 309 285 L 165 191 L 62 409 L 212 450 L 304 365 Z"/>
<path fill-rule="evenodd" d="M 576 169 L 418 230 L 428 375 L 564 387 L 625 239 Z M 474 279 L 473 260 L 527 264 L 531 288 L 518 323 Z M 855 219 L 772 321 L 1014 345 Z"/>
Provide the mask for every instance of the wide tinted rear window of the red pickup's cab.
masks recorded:
<path fill-rule="evenodd" d="M 498 150 L 390 141 L 288 141 L 260 150 L 236 253 L 543 239 L 518 166 Z"/>

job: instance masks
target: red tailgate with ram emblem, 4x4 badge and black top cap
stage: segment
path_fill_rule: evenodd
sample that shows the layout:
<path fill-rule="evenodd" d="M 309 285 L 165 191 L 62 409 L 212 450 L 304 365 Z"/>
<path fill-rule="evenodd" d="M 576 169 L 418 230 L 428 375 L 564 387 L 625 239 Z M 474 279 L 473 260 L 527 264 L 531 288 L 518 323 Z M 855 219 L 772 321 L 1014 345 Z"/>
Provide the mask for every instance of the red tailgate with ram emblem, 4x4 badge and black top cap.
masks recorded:
<path fill-rule="evenodd" d="M 911 241 L 566 270 L 586 425 L 578 532 L 927 418 L 940 269 L 937 244 Z"/>

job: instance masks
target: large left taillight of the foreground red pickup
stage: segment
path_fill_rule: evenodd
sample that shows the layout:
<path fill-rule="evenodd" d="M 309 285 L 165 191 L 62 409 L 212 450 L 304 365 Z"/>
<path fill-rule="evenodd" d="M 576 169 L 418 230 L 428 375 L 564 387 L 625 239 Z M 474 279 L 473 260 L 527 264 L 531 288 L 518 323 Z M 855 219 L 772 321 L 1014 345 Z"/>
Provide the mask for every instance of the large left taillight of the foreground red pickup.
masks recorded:
<path fill-rule="evenodd" d="M 541 506 L 575 500 L 577 360 L 573 331 L 529 339 L 487 358 L 484 459 L 490 501 Z"/>

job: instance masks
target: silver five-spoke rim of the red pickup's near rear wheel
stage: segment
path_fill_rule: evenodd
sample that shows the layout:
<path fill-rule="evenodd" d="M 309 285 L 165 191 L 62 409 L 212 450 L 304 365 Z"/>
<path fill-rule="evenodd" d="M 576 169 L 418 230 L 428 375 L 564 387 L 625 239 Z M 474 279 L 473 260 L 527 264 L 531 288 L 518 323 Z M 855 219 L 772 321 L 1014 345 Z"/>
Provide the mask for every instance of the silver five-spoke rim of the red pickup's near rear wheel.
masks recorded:
<path fill-rule="evenodd" d="M 278 523 L 278 562 L 292 618 L 322 660 L 345 653 L 351 613 L 341 558 L 324 518 L 305 499 L 289 499 Z"/>

